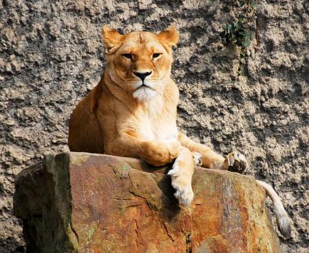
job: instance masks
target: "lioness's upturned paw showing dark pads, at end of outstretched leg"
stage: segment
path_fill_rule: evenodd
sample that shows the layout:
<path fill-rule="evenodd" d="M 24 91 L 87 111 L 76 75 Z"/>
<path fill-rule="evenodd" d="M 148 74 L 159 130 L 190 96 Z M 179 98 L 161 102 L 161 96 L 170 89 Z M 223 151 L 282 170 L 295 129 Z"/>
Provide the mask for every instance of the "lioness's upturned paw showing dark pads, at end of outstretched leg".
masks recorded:
<path fill-rule="evenodd" d="M 231 152 L 225 158 L 225 161 L 222 164 L 222 169 L 244 173 L 244 171 L 247 169 L 247 159 L 243 154 L 238 152 Z"/>

